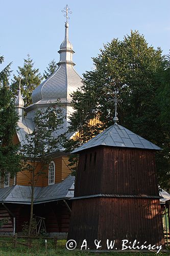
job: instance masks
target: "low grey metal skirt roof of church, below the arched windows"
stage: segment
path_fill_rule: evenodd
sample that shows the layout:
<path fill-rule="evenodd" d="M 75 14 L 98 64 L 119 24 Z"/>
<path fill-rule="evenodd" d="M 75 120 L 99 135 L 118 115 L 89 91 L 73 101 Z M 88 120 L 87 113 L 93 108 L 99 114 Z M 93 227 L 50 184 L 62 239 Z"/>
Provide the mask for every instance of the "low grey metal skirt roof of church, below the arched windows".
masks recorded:
<path fill-rule="evenodd" d="M 46 187 L 35 187 L 34 204 L 46 203 L 74 196 L 75 177 L 69 175 L 64 181 Z M 31 187 L 15 185 L 0 188 L 0 203 L 31 204 Z"/>

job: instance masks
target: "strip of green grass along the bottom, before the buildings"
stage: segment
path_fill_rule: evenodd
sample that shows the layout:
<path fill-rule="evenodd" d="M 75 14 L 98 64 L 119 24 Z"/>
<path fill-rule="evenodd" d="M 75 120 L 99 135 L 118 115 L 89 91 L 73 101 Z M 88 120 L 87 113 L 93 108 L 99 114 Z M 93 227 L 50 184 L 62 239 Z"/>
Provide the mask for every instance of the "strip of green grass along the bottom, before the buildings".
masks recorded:
<path fill-rule="evenodd" d="M 2 238 L 1 240 L 7 240 L 7 238 Z M 10 243 L 11 239 L 8 239 L 8 243 L 0 243 L 0 255 L 2 256 L 32 256 L 32 255 L 37 255 L 37 256 L 53 256 L 53 255 L 63 255 L 63 256 L 70 256 L 70 255 L 90 255 L 90 256 L 98 256 L 98 255 L 116 255 L 116 256 L 148 256 L 148 255 L 158 255 L 156 253 L 130 253 L 130 252 L 124 252 L 124 253 L 119 253 L 119 252 L 109 252 L 109 253 L 90 253 L 88 251 L 80 251 L 80 250 L 67 250 L 65 249 L 65 240 L 59 240 L 57 244 L 57 249 L 54 247 L 54 242 L 52 240 L 47 240 L 47 250 L 45 251 L 45 243 L 44 239 L 38 239 L 33 241 L 33 246 L 32 248 L 27 248 L 27 246 L 23 245 L 17 245 L 17 248 L 13 248 L 13 244 Z M 27 243 L 25 239 L 19 239 L 20 242 Z M 170 253 L 162 253 L 160 252 L 159 255 L 162 254 L 163 256 L 169 255 Z"/>

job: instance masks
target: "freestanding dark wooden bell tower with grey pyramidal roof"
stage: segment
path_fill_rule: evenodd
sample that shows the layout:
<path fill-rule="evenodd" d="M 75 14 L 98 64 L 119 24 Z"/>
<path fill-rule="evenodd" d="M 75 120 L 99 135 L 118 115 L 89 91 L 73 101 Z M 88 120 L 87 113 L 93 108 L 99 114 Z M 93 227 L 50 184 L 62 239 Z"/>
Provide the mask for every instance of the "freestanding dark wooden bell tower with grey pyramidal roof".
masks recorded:
<path fill-rule="evenodd" d="M 160 148 L 115 123 L 72 153 L 80 154 L 68 240 L 122 240 L 164 247 L 154 153 Z"/>

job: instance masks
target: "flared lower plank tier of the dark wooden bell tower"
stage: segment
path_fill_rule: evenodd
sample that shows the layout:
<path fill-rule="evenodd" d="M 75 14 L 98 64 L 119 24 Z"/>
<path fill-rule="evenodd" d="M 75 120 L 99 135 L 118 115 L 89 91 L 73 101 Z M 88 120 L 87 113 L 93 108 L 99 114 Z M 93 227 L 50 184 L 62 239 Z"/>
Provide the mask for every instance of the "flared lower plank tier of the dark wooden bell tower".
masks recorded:
<path fill-rule="evenodd" d="M 122 240 L 140 244 L 164 245 L 159 200 L 135 198 L 89 198 L 75 200 L 68 240 L 74 239 L 80 246 L 84 239 L 90 249 L 95 249 L 94 240 L 116 240 L 122 249 Z"/>

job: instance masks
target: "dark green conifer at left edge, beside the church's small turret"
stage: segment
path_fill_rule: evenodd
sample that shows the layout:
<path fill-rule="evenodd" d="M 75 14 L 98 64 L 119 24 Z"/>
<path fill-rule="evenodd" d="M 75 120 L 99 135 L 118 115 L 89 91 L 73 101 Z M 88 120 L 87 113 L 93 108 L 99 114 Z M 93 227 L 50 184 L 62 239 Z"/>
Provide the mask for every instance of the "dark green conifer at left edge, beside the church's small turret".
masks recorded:
<path fill-rule="evenodd" d="M 4 58 L 0 58 L 1 62 Z M 1 177 L 5 172 L 14 176 L 20 170 L 20 156 L 17 154 L 18 146 L 13 145 L 13 136 L 16 133 L 18 115 L 12 94 L 8 87 L 10 64 L 0 72 L 0 170 Z"/>

